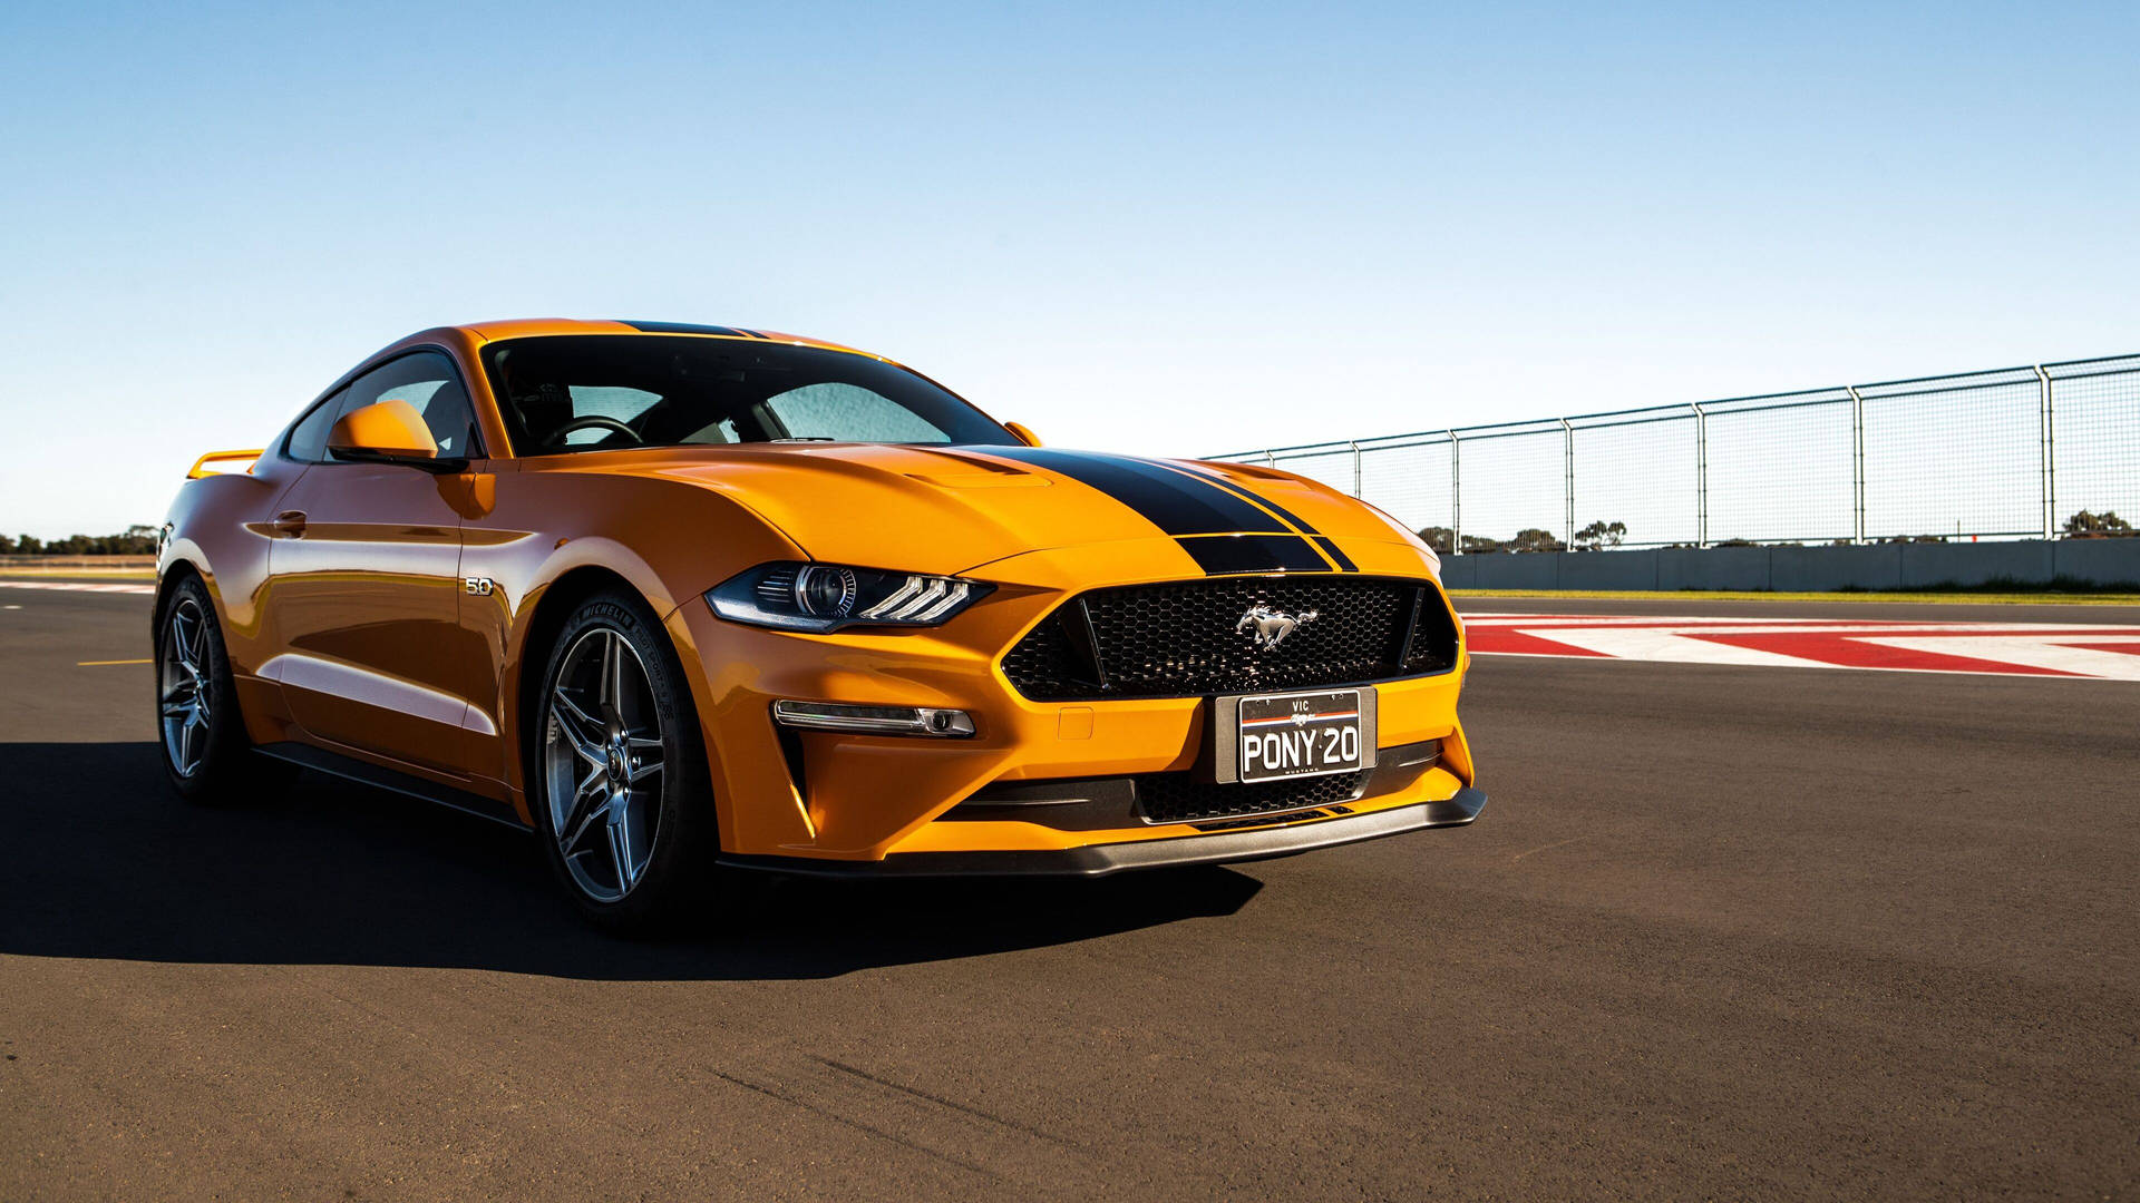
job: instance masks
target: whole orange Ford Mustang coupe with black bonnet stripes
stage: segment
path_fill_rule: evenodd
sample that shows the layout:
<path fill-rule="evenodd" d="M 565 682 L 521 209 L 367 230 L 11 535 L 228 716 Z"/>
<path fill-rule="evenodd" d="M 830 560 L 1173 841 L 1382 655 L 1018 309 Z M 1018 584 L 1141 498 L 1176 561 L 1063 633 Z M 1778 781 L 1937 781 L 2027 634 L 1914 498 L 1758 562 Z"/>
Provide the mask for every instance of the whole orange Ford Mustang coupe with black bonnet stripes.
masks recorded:
<path fill-rule="evenodd" d="M 1316 482 L 1042 450 L 845 347 L 460 325 L 195 465 L 156 715 L 188 798 L 492 813 L 612 927 L 743 867 L 1252 861 L 1485 805 L 1436 569 Z"/>

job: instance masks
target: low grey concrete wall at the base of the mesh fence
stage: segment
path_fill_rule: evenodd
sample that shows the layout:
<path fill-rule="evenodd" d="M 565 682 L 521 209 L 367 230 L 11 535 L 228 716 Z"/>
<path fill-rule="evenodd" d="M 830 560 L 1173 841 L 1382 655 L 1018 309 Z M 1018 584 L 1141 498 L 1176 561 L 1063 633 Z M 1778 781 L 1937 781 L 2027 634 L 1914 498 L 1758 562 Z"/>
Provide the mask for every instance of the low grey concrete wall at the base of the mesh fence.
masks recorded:
<path fill-rule="evenodd" d="M 1442 557 L 1449 589 L 1733 589 L 1828 593 L 1937 584 L 2131 584 L 2140 537 L 1853 548 L 1650 548 Z"/>

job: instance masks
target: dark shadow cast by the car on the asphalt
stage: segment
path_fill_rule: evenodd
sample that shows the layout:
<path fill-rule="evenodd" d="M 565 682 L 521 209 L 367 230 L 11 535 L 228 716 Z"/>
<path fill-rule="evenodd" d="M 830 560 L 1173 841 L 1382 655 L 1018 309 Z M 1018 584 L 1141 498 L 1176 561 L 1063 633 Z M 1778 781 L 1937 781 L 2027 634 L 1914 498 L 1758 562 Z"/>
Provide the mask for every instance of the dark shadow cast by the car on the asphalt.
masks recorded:
<path fill-rule="evenodd" d="M 668 942 L 586 927 L 533 835 L 306 773 L 188 807 L 154 743 L 4 743 L 0 953 L 477 968 L 599 980 L 826 978 L 1237 912 L 1203 867 L 1079 880 L 770 878 Z"/>

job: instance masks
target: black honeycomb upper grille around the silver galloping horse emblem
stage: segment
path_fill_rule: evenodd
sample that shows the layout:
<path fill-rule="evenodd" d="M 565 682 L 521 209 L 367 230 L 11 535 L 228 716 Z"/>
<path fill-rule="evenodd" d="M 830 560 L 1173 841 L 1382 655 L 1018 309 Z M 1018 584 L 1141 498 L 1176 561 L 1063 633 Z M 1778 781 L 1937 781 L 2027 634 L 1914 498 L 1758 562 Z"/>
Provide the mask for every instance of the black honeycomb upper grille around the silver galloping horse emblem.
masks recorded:
<path fill-rule="evenodd" d="M 1256 651 L 1239 629 L 1254 606 L 1316 616 Z M 1455 651 L 1449 606 L 1417 580 L 1183 580 L 1066 602 L 1004 655 L 1004 674 L 1038 702 L 1201 698 L 1423 676 Z"/>

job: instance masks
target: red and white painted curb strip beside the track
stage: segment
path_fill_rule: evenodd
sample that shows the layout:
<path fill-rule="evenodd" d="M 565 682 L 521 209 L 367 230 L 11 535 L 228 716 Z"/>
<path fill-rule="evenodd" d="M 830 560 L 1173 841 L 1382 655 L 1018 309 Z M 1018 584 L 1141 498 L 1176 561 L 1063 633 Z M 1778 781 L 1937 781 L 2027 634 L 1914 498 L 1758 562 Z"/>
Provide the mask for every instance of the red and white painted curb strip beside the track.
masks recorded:
<path fill-rule="evenodd" d="M 2140 681 L 2140 627 L 2095 623 L 1464 614 L 1464 631 L 1474 655 Z"/>

